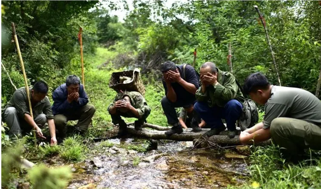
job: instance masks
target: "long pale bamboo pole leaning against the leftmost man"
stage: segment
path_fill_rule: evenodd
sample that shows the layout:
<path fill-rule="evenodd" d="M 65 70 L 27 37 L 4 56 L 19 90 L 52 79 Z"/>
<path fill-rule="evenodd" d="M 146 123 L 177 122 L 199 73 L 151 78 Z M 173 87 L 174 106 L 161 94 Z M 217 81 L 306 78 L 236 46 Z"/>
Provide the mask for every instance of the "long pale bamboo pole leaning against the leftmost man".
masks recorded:
<path fill-rule="evenodd" d="M 25 79 L 25 86 L 26 86 L 26 93 L 27 93 L 28 102 L 29 102 L 30 116 L 32 117 L 32 119 L 34 119 L 34 115 L 33 115 L 33 112 L 32 112 L 32 106 L 31 106 L 31 99 L 30 99 L 28 80 L 27 80 L 27 75 L 26 75 L 26 71 L 25 71 L 24 61 L 22 60 L 22 56 L 21 56 L 21 52 L 20 52 L 19 42 L 18 42 L 18 38 L 17 38 L 17 34 L 16 34 L 15 23 L 11 23 L 11 27 L 12 27 L 12 30 L 13 30 L 13 34 L 14 34 L 14 38 L 15 38 L 15 42 L 16 42 L 16 46 L 17 46 L 17 51 L 18 51 L 18 56 L 19 56 L 19 59 L 20 59 L 21 69 L 22 69 L 22 72 L 23 72 L 23 75 L 24 75 L 24 79 Z M 33 133 L 34 133 L 34 139 L 35 139 L 35 146 L 37 146 L 36 132 L 34 131 Z"/>

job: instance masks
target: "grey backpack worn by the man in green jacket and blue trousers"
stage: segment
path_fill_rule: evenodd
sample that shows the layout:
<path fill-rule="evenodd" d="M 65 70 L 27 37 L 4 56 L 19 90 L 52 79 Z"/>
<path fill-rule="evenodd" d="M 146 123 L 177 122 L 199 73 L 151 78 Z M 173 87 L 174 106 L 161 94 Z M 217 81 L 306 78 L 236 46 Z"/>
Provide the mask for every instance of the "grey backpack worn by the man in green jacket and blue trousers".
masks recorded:
<path fill-rule="evenodd" d="M 247 95 L 244 93 L 243 88 L 241 87 L 239 82 L 236 79 L 235 81 L 245 98 L 245 101 L 243 102 L 243 112 L 240 119 L 238 120 L 238 126 L 243 131 L 254 126 L 258 122 L 259 113 L 257 111 L 256 104 L 253 102 L 253 100 L 247 98 Z"/>

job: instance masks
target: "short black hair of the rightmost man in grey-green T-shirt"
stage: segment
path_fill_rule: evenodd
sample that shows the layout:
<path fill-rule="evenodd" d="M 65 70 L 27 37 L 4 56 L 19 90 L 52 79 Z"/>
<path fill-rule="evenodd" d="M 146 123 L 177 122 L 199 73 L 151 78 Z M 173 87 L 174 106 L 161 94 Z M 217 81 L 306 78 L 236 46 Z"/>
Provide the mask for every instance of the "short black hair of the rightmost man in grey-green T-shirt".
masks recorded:
<path fill-rule="evenodd" d="M 265 75 L 261 72 L 256 72 L 245 79 L 243 90 L 246 94 L 249 94 L 260 89 L 268 89 L 270 85 Z"/>

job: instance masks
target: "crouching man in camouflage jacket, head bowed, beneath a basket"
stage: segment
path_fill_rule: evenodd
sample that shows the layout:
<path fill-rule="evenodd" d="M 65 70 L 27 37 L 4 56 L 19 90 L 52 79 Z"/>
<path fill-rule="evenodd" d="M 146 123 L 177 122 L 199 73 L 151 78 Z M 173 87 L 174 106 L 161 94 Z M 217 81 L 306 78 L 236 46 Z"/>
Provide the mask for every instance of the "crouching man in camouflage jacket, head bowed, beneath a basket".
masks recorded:
<path fill-rule="evenodd" d="M 136 91 L 119 92 L 114 102 L 108 106 L 108 112 L 114 125 L 119 124 L 119 135 L 126 133 L 127 124 L 120 116 L 134 117 L 135 130 L 142 130 L 142 125 L 146 122 L 146 118 L 150 114 L 145 98 Z"/>

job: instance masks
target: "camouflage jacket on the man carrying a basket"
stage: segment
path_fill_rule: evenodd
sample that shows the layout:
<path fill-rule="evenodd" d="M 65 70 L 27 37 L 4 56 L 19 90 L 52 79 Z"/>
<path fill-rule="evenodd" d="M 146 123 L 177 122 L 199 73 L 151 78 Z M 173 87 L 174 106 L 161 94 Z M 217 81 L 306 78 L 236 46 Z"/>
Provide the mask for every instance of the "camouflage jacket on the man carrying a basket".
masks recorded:
<path fill-rule="evenodd" d="M 136 91 L 125 91 L 123 93 L 118 93 L 115 96 L 113 103 L 108 106 L 108 112 L 109 109 L 115 104 L 115 102 L 122 99 L 124 96 L 128 96 L 130 98 L 131 105 L 138 110 L 139 118 L 141 118 L 145 113 L 144 106 L 147 106 L 147 102 L 145 98 Z"/>

